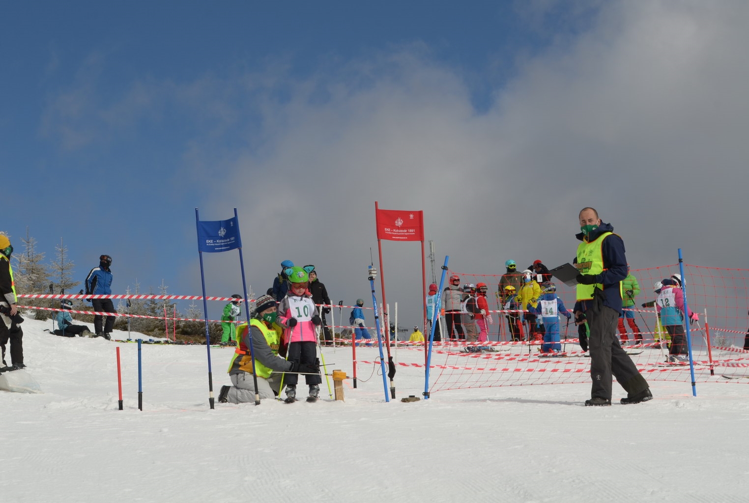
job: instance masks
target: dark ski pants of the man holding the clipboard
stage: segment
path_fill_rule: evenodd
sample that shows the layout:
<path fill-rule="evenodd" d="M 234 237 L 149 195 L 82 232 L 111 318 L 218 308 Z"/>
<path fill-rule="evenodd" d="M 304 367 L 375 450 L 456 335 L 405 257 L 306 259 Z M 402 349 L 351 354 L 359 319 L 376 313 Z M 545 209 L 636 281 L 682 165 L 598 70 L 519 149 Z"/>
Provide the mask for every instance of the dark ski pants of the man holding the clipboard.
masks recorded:
<path fill-rule="evenodd" d="M 619 313 L 604 305 L 601 290 L 594 290 L 590 308 L 585 312 L 590 330 L 590 378 L 592 379 L 591 398 L 611 400 L 611 376 L 627 391 L 628 396 L 645 391 L 648 382 L 632 362 L 629 355 L 619 345 L 616 337 L 616 324 Z"/>

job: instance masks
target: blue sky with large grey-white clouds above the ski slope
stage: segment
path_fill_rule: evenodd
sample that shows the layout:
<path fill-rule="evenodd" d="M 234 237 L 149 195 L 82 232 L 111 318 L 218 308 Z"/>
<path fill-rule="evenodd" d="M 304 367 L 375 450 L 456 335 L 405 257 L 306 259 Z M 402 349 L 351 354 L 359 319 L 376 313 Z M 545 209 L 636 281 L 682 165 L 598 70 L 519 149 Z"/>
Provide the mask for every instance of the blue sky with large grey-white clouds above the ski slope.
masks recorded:
<path fill-rule="evenodd" d="M 458 271 L 569 260 L 587 205 L 636 268 L 679 247 L 742 267 L 748 9 L 6 2 L 0 231 L 48 258 L 62 237 L 80 279 L 111 254 L 118 293 L 199 293 L 195 207 L 237 207 L 253 290 L 290 259 L 336 302 L 369 293 L 375 201 L 424 210 Z M 240 291 L 229 255 L 206 257 L 210 295 Z M 383 255 L 388 299 L 418 303 L 418 246 Z"/>

